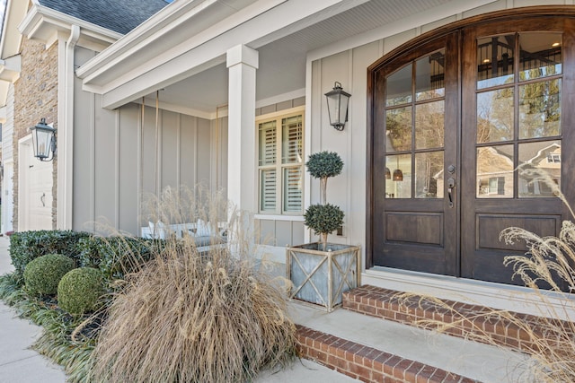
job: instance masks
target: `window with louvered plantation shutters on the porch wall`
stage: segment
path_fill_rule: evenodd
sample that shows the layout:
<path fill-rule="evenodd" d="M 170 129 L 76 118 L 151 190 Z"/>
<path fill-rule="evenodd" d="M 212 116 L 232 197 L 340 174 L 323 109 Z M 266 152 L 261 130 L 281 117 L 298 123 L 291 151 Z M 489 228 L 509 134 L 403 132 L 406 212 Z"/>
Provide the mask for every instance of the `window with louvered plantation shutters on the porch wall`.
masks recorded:
<path fill-rule="evenodd" d="M 303 114 L 258 122 L 260 213 L 303 213 Z"/>

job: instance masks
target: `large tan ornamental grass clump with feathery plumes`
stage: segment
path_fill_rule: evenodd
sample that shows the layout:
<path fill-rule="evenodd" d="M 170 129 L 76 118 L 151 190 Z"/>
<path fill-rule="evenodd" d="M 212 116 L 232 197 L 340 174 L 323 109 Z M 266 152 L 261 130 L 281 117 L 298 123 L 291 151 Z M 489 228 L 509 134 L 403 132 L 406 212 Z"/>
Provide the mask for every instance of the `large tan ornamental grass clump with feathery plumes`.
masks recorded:
<path fill-rule="evenodd" d="M 147 219 L 227 222 L 227 244 L 168 236 L 127 274 L 92 353 L 91 381 L 245 382 L 295 355 L 285 286 L 257 259 L 252 220 L 219 194 L 166 189 Z M 218 233 L 217 235 L 221 235 Z"/>

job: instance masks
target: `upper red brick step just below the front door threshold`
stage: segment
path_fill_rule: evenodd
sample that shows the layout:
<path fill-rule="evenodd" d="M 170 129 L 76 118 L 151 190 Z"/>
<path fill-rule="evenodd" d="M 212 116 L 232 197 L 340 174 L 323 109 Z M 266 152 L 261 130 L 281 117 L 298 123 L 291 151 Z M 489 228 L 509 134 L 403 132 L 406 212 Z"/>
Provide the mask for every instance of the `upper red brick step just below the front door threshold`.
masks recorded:
<path fill-rule="evenodd" d="M 573 328 L 567 322 L 555 321 L 554 326 L 549 326 L 549 319 L 533 315 L 454 300 L 423 298 L 370 285 L 344 292 L 342 307 L 406 325 L 438 329 L 448 335 L 503 345 L 524 353 L 533 353 L 537 349 L 536 342 L 542 338 L 550 343 L 561 342 L 565 333 L 557 333 L 555 328 Z"/>

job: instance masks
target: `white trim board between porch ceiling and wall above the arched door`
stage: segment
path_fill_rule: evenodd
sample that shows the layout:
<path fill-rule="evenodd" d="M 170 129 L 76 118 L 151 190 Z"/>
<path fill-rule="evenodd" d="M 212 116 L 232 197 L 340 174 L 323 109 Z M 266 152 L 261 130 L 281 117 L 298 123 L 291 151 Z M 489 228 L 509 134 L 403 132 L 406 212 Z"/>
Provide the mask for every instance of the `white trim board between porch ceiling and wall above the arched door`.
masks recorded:
<path fill-rule="evenodd" d="M 385 24 L 380 28 L 368 30 L 365 33 L 360 33 L 356 36 L 350 37 L 349 39 L 343 39 L 331 45 L 310 51 L 307 55 L 307 59 L 309 61 L 314 61 L 323 57 L 329 57 L 378 39 L 385 39 L 386 37 L 394 36 L 406 30 L 412 30 L 421 25 L 437 22 L 438 20 L 445 19 L 449 16 L 464 13 L 473 8 L 478 8 L 482 5 L 495 3 L 497 1 L 499 0 L 454 0 L 451 3 L 439 5 L 438 7 L 429 9 L 425 12 L 412 14 L 405 19 Z"/>

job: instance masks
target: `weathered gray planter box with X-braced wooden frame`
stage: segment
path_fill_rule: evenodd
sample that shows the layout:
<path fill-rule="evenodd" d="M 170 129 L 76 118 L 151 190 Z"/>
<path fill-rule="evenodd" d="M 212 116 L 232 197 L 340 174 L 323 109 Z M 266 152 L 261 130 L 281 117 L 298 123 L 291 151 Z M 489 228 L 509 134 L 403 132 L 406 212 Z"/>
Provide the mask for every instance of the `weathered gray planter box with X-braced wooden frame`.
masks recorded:
<path fill-rule="evenodd" d="M 359 247 L 314 242 L 286 250 L 289 297 L 332 312 L 341 305 L 341 294 L 358 287 L 361 272 Z"/>

